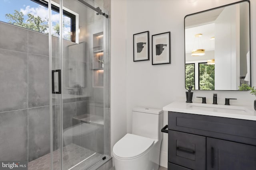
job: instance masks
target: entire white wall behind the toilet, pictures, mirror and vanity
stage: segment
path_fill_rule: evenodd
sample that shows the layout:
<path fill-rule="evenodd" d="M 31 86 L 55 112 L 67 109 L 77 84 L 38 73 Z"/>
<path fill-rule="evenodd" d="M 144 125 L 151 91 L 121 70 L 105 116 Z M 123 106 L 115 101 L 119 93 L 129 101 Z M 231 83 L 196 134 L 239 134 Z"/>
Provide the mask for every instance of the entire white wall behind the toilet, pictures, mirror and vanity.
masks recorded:
<path fill-rule="evenodd" d="M 113 128 L 126 125 L 124 123 L 126 118 L 122 117 L 126 114 L 127 132 L 131 132 L 133 107 L 162 108 L 175 100 L 186 101 L 184 79 L 184 16 L 236 1 L 197 0 L 193 4 L 188 3 L 188 0 L 111 1 L 112 144 L 124 135 L 125 129 L 116 131 Z M 124 5 L 127 5 L 126 9 Z M 125 13 L 126 10 L 127 14 Z M 251 0 L 251 30 L 255 29 L 256 1 Z M 151 65 L 151 47 L 150 61 L 133 62 L 133 34 L 142 31 L 150 31 L 150 45 L 151 35 L 171 31 L 172 64 Z M 127 36 L 126 39 L 124 39 L 125 36 Z M 251 38 L 251 47 L 254 47 L 256 45 L 256 33 L 254 31 L 251 32 Z M 123 47 L 125 42 L 127 42 L 126 49 Z M 127 56 L 126 63 L 123 61 L 125 55 Z M 252 73 L 256 72 L 255 55 L 256 49 L 252 48 Z M 252 77 L 252 83 L 252 85 L 256 85 L 256 74 Z M 123 94 L 123 90 L 126 90 L 126 95 Z M 224 104 L 224 98 L 237 98 L 238 100 L 232 101 L 231 104 L 248 101 L 252 106 L 255 99 L 255 96 L 250 95 L 249 92 L 194 91 L 193 101 L 199 101 L 195 96 L 205 96 L 207 102 L 210 103 L 212 102 L 213 93 L 218 93 L 218 103 L 220 104 Z M 118 111 L 120 112 L 118 113 Z M 168 115 L 165 112 L 164 125 L 167 124 L 167 119 Z M 115 132 L 118 132 L 118 134 L 113 134 Z M 160 165 L 165 167 L 167 167 L 168 161 L 167 141 L 168 135 L 164 134 Z"/>

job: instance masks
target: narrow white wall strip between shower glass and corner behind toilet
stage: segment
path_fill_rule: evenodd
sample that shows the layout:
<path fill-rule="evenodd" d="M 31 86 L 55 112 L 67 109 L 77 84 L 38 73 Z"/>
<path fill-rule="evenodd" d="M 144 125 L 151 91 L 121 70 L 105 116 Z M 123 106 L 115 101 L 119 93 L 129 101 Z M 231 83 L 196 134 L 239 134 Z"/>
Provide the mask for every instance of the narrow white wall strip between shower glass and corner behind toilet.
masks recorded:
<path fill-rule="evenodd" d="M 126 0 L 111 1 L 111 152 L 126 129 Z"/>

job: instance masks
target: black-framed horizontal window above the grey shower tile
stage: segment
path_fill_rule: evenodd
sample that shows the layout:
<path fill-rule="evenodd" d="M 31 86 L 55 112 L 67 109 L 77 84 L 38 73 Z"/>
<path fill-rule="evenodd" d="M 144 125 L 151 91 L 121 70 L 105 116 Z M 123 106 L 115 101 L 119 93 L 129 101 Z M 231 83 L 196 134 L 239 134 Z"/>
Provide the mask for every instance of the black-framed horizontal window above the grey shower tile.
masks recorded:
<path fill-rule="evenodd" d="M 0 3 L 0 21 L 49 34 L 48 0 L 0 0 Z M 59 4 L 52 1 L 51 4 L 51 34 L 60 37 Z M 63 39 L 78 43 L 78 14 L 63 8 L 62 24 Z"/>

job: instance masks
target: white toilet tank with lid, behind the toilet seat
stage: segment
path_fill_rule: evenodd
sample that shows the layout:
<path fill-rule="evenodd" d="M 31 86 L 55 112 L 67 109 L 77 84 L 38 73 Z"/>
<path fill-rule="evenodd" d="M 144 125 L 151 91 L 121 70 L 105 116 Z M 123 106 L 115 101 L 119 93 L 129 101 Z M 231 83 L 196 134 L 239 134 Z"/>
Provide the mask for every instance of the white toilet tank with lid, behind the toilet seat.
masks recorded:
<path fill-rule="evenodd" d="M 162 140 L 163 111 L 135 107 L 132 110 L 132 134 Z"/>

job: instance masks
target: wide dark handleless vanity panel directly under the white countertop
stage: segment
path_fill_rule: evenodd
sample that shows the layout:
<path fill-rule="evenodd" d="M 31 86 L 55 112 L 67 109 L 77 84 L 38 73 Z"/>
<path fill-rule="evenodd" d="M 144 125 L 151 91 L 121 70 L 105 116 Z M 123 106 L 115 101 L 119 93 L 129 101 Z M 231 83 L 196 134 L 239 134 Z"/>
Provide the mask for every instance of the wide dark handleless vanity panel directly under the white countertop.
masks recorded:
<path fill-rule="evenodd" d="M 169 111 L 168 129 L 256 145 L 256 121 Z"/>

